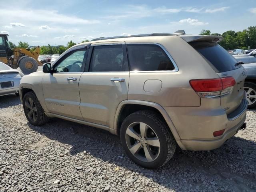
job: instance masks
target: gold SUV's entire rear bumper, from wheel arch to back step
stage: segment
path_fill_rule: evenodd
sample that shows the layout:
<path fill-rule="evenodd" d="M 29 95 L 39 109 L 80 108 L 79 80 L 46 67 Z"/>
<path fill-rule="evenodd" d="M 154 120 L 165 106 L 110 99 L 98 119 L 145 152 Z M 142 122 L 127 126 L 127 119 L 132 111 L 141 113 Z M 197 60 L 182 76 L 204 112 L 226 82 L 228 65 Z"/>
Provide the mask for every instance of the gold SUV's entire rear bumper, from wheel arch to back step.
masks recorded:
<path fill-rule="evenodd" d="M 214 102 L 214 100 L 211 101 Z M 205 103 L 200 107 L 164 107 L 180 136 L 177 143 L 182 150 L 218 148 L 236 134 L 244 124 L 247 109 L 245 99 L 234 112 L 228 115 L 221 107 L 207 106 L 207 100 L 202 100 L 202 102 Z M 221 136 L 213 136 L 213 132 L 223 129 L 224 133 Z"/>

